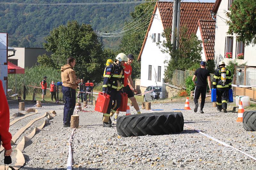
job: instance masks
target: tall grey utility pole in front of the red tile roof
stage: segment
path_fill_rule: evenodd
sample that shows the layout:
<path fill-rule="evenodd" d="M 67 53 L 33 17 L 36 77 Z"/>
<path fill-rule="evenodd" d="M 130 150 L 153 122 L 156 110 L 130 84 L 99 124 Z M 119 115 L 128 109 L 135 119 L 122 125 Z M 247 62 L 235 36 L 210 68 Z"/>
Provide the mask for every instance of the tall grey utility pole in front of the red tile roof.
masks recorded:
<path fill-rule="evenodd" d="M 172 38 L 171 44 L 173 49 L 177 49 L 180 45 L 180 0 L 173 0 L 173 12 L 172 12 Z M 175 36 L 175 30 L 177 29 L 177 35 Z M 177 39 L 175 39 L 175 37 Z"/>

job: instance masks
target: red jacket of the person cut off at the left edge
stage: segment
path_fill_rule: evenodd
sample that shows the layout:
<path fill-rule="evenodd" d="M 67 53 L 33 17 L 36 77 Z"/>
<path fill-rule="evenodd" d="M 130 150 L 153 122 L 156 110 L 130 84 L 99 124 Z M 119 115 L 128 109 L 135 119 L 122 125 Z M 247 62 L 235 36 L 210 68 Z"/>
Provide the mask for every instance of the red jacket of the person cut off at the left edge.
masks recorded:
<path fill-rule="evenodd" d="M 12 149 L 11 147 L 11 139 L 12 135 L 9 132 L 10 127 L 10 112 L 9 106 L 4 94 L 3 83 L 0 80 L 0 136 L 1 141 L 3 142 L 3 146 L 5 150 Z"/>

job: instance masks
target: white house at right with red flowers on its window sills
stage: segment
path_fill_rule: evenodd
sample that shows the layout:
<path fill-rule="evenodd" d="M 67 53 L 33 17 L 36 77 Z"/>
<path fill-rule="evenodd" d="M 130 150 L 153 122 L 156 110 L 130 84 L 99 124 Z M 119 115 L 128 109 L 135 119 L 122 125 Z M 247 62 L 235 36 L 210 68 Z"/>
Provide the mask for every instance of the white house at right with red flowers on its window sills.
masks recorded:
<path fill-rule="evenodd" d="M 212 15 L 216 16 L 216 30 L 215 30 L 215 63 L 224 60 L 227 64 L 229 60 L 235 60 L 238 64 L 247 62 L 249 66 L 256 66 L 256 47 L 249 45 L 244 46 L 244 43 L 236 40 L 236 35 L 229 35 L 228 25 L 226 20 L 228 17 L 229 7 L 232 5 L 233 0 L 216 0 L 212 9 Z M 232 53 L 232 58 L 226 58 L 226 53 Z M 244 58 L 238 59 L 237 54 L 243 53 Z"/>

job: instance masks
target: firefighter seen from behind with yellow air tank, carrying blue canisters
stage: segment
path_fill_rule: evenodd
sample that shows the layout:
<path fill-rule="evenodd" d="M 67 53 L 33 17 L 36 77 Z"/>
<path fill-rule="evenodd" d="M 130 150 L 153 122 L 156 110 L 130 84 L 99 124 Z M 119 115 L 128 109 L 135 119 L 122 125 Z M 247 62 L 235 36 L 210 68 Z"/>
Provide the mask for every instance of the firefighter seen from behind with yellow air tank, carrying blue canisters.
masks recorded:
<path fill-rule="evenodd" d="M 218 66 L 213 76 L 212 88 L 217 89 L 217 110 L 221 112 L 223 109 L 223 112 L 227 113 L 228 89 L 231 89 L 232 84 L 231 73 L 225 68 L 224 61 L 220 61 Z"/>

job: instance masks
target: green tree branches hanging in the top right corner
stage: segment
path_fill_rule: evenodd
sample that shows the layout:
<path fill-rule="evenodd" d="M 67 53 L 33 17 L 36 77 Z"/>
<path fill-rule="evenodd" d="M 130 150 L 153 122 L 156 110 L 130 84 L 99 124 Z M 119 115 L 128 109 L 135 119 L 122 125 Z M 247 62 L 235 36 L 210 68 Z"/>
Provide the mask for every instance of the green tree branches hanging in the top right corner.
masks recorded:
<path fill-rule="evenodd" d="M 237 39 L 246 45 L 256 44 L 256 1 L 255 0 L 234 0 L 227 12 L 230 19 L 227 21 L 228 34 L 238 35 Z"/>

